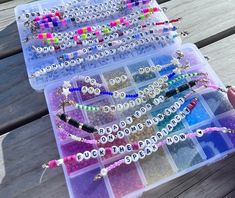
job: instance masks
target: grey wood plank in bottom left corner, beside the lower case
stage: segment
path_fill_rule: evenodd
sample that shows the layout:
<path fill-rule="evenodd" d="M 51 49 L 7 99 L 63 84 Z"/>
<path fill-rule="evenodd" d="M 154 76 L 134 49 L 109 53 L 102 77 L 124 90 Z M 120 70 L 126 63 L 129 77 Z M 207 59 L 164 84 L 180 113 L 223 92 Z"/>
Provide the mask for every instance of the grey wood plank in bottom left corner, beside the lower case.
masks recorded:
<path fill-rule="evenodd" d="M 40 185 L 41 165 L 58 158 L 49 117 L 0 136 L 0 197 L 68 197 L 62 169 L 47 171 Z"/>

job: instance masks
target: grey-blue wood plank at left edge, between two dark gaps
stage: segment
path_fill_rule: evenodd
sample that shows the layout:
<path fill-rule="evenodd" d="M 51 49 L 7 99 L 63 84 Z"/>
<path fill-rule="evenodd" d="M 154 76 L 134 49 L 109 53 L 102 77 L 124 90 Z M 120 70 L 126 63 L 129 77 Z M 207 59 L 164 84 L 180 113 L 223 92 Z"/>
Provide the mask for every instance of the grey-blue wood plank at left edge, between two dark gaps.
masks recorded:
<path fill-rule="evenodd" d="M 44 95 L 29 85 L 21 53 L 0 61 L 0 109 L 0 134 L 47 112 Z"/>

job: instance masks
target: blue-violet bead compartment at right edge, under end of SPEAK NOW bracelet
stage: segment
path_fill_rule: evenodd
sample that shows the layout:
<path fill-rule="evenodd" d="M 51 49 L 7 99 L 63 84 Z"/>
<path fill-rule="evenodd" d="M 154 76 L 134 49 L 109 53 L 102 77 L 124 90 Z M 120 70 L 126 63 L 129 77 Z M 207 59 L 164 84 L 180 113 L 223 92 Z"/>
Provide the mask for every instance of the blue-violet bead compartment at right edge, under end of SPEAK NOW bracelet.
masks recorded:
<path fill-rule="evenodd" d="M 219 123 L 222 127 L 228 127 L 228 128 L 231 128 L 231 129 L 235 129 L 235 115 L 230 115 L 230 116 L 226 116 L 226 117 L 223 117 L 223 118 L 220 118 L 219 119 Z M 229 139 L 231 140 L 231 142 L 233 143 L 233 148 L 235 148 L 235 133 L 228 133 L 226 134 Z"/>

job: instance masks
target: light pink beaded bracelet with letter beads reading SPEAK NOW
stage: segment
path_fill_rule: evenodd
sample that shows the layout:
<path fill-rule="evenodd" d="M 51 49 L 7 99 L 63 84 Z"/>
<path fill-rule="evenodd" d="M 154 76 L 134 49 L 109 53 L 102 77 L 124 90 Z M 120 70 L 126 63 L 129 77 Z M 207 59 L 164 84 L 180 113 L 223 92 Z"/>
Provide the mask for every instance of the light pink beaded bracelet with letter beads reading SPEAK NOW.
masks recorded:
<path fill-rule="evenodd" d="M 173 143 L 176 144 L 180 141 L 185 141 L 186 139 L 189 138 L 194 138 L 194 137 L 202 137 L 204 134 L 210 133 L 210 132 L 223 132 L 223 133 L 235 133 L 235 130 L 233 129 L 228 129 L 226 127 L 212 127 L 212 128 L 206 128 L 204 130 L 198 129 L 196 132 L 193 133 L 181 133 L 179 135 L 173 135 L 172 137 L 167 137 L 165 140 L 156 143 L 156 142 L 151 142 L 149 146 L 145 147 L 144 149 L 141 149 L 138 151 L 138 153 L 133 153 L 131 155 L 125 156 L 125 158 L 118 160 L 117 162 L 114 162 L 113 164 L 109 165 L 106 168 L 102 168 L 100 173 L 97 174 L 94 178 L 94 181 L 99 180 L 105 176 L 108 175 L 108 173 L 115 168 L 121 166 L 122 164 L 131 164 L 132 162 L 137 162 L 139 159 L 144 159 L 146 156 L 151 155 L 153 152 L 156 152 L 158 148 L 164 146 L 164 145 L 172 145 Z M 79 159 L 82 155 L 79 154 Z M 83 157 L 83 156 L 82 156 Z M 74 156 L 74 160 L 79 160 Z M 56 161 L 51 162 L 52 165 L 47 164 L 47 166 L 43 165 L 45 168 L 54 168 L 57 166 Z"/>

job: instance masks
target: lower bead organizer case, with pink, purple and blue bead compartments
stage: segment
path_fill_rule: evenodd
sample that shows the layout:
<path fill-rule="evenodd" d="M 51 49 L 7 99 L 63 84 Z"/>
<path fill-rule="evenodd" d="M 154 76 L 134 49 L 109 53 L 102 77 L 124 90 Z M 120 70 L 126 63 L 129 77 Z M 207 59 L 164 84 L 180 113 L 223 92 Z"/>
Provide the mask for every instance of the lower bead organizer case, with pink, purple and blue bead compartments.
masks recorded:
<path fill-rule="evenodd" d="M 217 75 L 208 65 L 202 54 L 192 44 L 185 44 L 181 49 L 185 53 L 183 62 L 189 61 L 191 68 L 189 71 L 207 71 L 209 78 L 211 78 L 217 85 L 223 86 Z M 145 57 L 138 57 L 132 61 L 126 61 L 123 64 L 111 64 L 102 69 L 96 69 L 82 73 L 82 75 L 99 75 L 104 88 L 109 90 L 107 85 L 108 78 L 106 75 L 110 74 L 113 77 L 112 71 L 125 71 L 130 79 L 130 86 L 122 87 L 119 90 L 136 92 L 138 89 L 142 89 L 148 83 L 153 82 L 160 75 L 155 73 L 156 78 L 148 79 L 147 81 L 135 82 L 133 75 L 138 70 L 137 65 L 142 63 L 148 63 L 149 65 L 164 64 L 169 61 L 174 52 L 162 51 L 155 55 L 148 55 Z M 141 63 L 141 64 L 140 64 Z M 130 65 L 134 65 L 133 67 Z M 142 65 L 143 66 L 143 65 Z M 105 77 L 106 76 L 106 77 Z M 189 80 L 189 79 L 187 79 Z M 182 82 L 183 84 L 184 82 Z M 60 141 L 59 133 L 56 130 L 55 120 L 55 104 L 57 99 L 55 95 L 51 93 L 55 92 L 63 81 L 58 81 L 45 89 L 45 96 L 53 124 L 55 137 L 57 139 L 57 146 L 62 157 L 65 153 L 78 152 L 81 147 L 71 146 L 70 144 L 78 144 L 74 142 L 63 143 Z M 76 80 L 74 81 L 76 85 Z M 179 94 L 180 95 L 180 94 Z M 175 98 L 178 98 L 177 95 Z M 179 134 L 181 132 L 189 133 L 198 128 L 205 128 L 207 126 L 228 126 L 235 128 L 235 112 L 231 109 L 227 99 L 223 95 L 212 90 L 205 90 L 194 97 L 199 97 L 199 105 L 195 108 L 192 115 L 189 118 L 184 119 L 182 124 L 171 133 Z M 60 96 L 57 95 L 58 99 Z M 71 96 L 74 97 L 74 96 Z M 113 104 L 115 102 L 111 97 L 99 96 L 94 99 L 83 101 L 81 97 L 77 97 L 76 100 L 83 102 L 84 104 L 97 104 L 97 101 L 107 100 Z M 172 104 L 174 98 L 171 98 L 163 105 L 155 107 L 149 112 L 146 117 L 151 117 L 155 112 L 161 111 L 164 106 Z M 71 111 L 71 109 L 68 109 Z M 77 110 L 75 110 L 77 111 Z M 115 119 L 108 120 L 107 122 L 115 123 L 126 115 L 130 115 L 131 111 L 125 113 L 116 113 Z M 90 122 L 87 112 L 81 112 L 86 122 Z M 200 115 L 200 116 L 198 116 Z M 139 121 L 139 120 L 138 120 Z M 108 123 L 105 123 L 105 126 Z M 65 126 L 66 124 L 64 124 Z M 160 125 L 159 125 L 160 126 Z M 134 137 L 129 136 L 124 139 L 124 142 L 131 142 L 139 139 L 144 139 L 152 135 L 157 131 L 159 126 L 153 127 L 150 132 L 144 132 L 143 134 L 136 134 Z M 80 132 L 77 131 L 77 134 Z M 81 134 L 84 136 L 84 134 Z M 91 135 L 93 138 L 93 135 Z M 116 142 L 117 145 L 125 144 L 124 142 Z M 190 172 L 200 166 L 210 164 L 215 160 L 220 159 L 227 153 L 232 152 L 235 148 L 235 136 L 227 134 L 212 133 L 206 134 L 202 138 L 193 138 L 179 144 L 173 144 L 171 146 L 164 146 L 156 153 L 146 157 L 144 160 L 140 160 L 138 163 L 131 164 L 130 166 L 123 165 L 111 172 L 108 177 L 97 183 L 93 182 L 93 177 L 99 172 L 100 168 L 107 166 L 108 164 L 120 159 L 123 155 L 107 156 L 102 159 L 92 161 L 92 163 L 86 164 L 86 166 L 74 169 L 74 171 L 68 172 L 64 167 L 65 177 L 68 184 L 68 189 L 71 197 L 137 197 L 144 191 L 154 188 L 162 183 L 172 180 L 182 174 Z M 67 150 L 66 150 L 67 149 Z"/>

